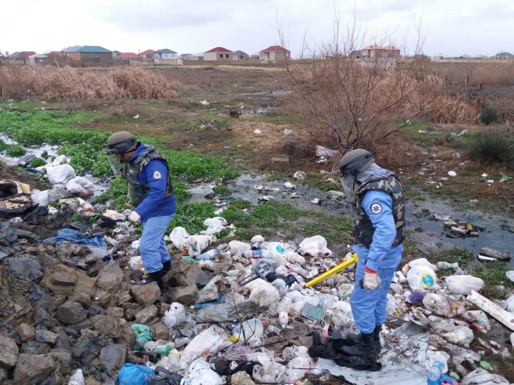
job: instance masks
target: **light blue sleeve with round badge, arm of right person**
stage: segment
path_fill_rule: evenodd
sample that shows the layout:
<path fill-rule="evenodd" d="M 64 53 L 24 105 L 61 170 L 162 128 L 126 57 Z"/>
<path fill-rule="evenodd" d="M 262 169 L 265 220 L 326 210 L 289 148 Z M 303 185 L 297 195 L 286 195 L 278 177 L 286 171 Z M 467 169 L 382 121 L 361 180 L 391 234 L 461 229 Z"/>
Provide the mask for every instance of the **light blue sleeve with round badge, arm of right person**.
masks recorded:
<path fill-rule="evenodd" d="M 366 266 L 375 271 L 380 267 L 380 262 L 391 249 L 396 237 L 392 206 L 393 199 L 383 191 L 369 190 L 362 199 L 362 209 L 375 228 Z"/>

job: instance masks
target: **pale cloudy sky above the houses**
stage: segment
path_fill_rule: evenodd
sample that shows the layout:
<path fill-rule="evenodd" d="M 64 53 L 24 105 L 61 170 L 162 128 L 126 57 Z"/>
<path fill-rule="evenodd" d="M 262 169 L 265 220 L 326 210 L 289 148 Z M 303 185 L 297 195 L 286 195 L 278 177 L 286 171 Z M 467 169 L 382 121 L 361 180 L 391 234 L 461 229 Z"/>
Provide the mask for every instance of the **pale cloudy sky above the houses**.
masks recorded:
<path fill-rule="evenodd" d="M 354 17 L 357 48 L 386 43 L 412 54 L 422 31 L 428 55 L 514 53 L 514 0 L 15 0 L 1 14 L 0 51 L 11 53 L 99 45 L 251 54 L 284 42 L 298 57 L 332 41 L 336 20 L 346 37 Z"/>

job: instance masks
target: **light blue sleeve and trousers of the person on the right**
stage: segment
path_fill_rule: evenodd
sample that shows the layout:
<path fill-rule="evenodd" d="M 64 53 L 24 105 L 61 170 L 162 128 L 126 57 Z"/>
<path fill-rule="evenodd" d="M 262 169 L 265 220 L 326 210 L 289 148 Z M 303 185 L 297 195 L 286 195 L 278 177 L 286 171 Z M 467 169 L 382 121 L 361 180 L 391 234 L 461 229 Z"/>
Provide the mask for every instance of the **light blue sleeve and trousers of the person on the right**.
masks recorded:
<path fill-rule="evenodd" d="M 380 204 L 378 214 L 372 205 Z M 376 206 L 375 206 L 376 207 Z M 392 214 L 393 199 L 386 192 L 369 190 L 362 199 L 362 209 L 375 228 L 370 248 L 354 245 L 352 248 L 359 256 L 355 270 L 355 286 L 350 298 L 355 325 L 361 333 L 373 333 L 375 326 L 386 320 L 387 294 L 396 268 L 400 264 L 403 245 L 392 246 L 396 228 Z M 364 267 L 377 271 L 382 280 L 379 288 L 371 292 L 361 288 L 359 282 L 364 278 Z"/>

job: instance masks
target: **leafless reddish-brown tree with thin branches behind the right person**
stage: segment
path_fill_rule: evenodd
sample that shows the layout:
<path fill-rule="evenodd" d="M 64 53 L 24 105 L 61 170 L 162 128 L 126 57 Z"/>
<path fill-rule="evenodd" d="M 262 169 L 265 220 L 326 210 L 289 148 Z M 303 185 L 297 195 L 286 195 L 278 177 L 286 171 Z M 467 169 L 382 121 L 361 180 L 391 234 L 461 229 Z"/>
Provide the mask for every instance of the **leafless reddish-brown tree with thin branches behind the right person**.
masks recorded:
<path fill-rule="evenodd" d="M 281 40 L 281 27 L 277 28 Z M 364 42 L 374 44 L 361 50 Z M 383 45 L 389 45 L 382 48 Z M 413 58 L 421 52 L 423 36 L 417 29 Z M 300 61 L 285 61 L 292 82 L 289 94 L 300 115 L 300 138 L 308 147 L 373 148 L 412 120 L 423 106 L 411 97 L 419 92 L 416 60 L 406 60 L 388 38 L 368 39 L 353 22 L 334 21 L 331 40 L 309 48 L 303 42 Z M 427 84 L 424 84 L 427 87 Z"/>

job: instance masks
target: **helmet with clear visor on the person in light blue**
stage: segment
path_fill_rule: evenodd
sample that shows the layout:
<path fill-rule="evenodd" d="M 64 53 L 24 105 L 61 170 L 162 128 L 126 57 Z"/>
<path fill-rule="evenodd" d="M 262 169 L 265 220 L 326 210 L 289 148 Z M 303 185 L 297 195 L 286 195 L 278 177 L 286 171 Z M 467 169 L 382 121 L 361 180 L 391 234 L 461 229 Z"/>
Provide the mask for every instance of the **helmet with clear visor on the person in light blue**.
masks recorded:
<path fill-rule="evenodd" d="M 339 171 L 341 172 L 339 180 L 347 200 L 352 200 L 355 196 L 358 187 L 355 183 L 357 174 L 368 168 L 373 162 L 375 162 L 373 153 L 363 148 L 349 151 L 341 158 L 339 161 Z"/>

